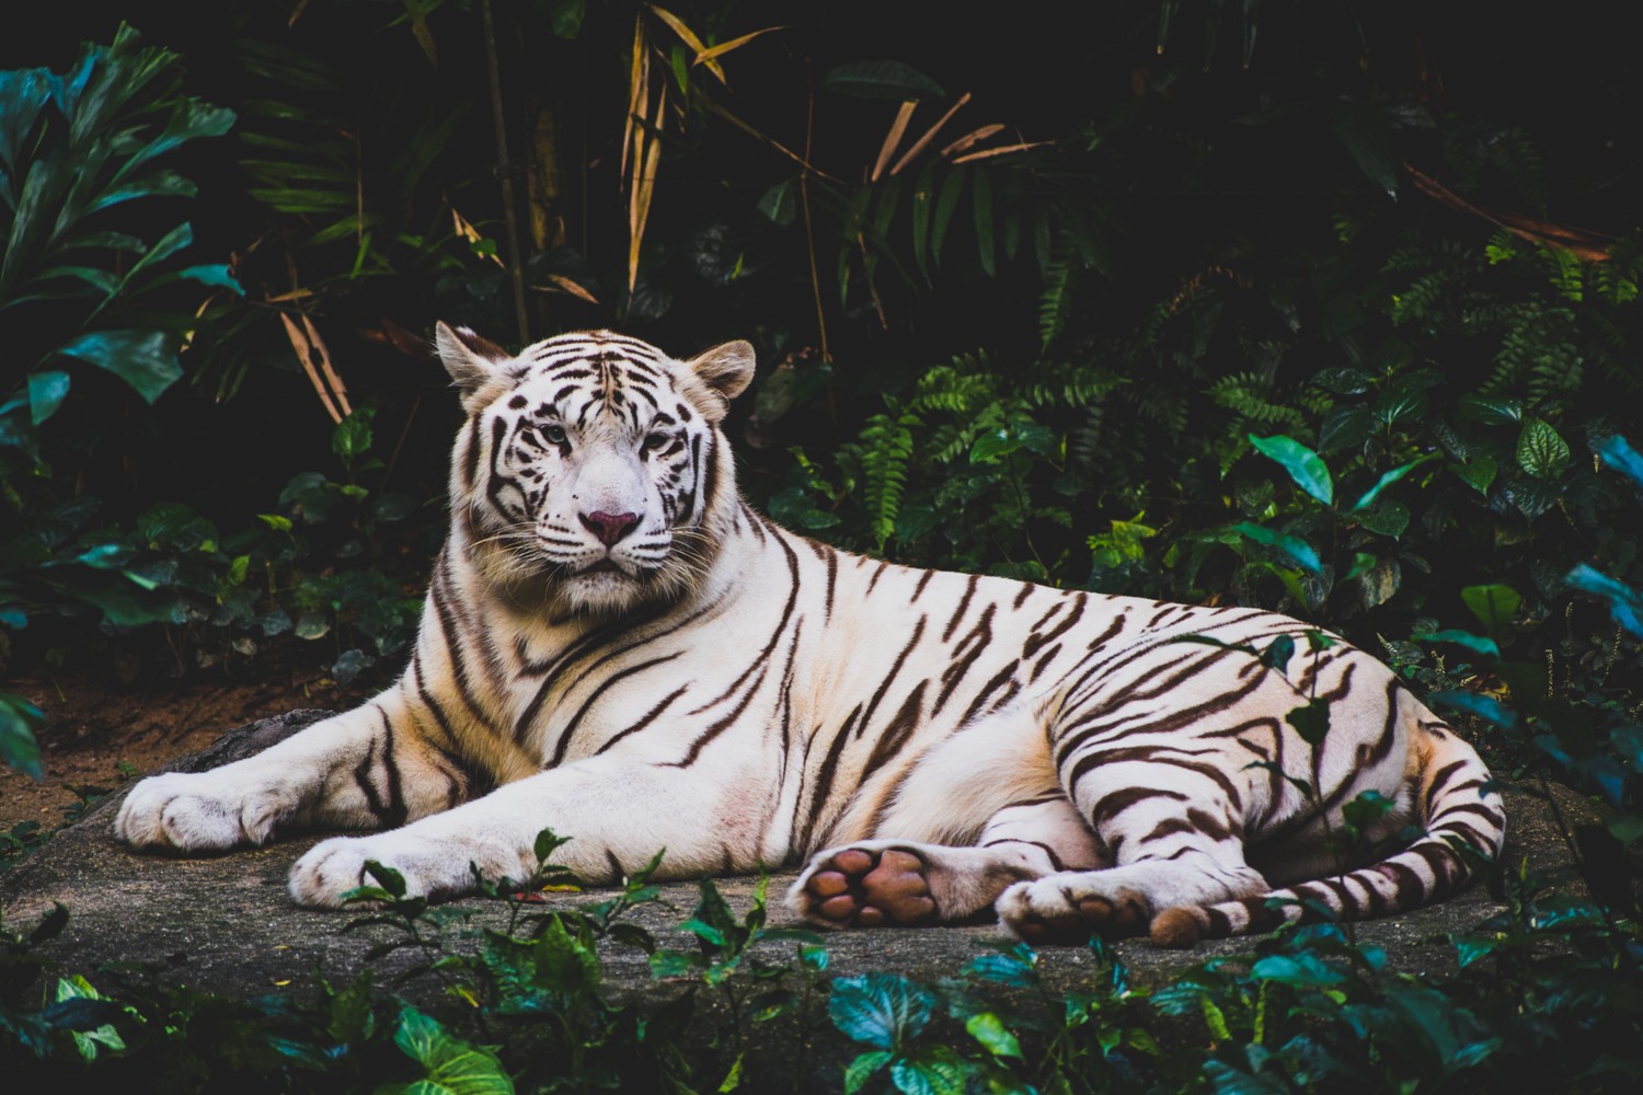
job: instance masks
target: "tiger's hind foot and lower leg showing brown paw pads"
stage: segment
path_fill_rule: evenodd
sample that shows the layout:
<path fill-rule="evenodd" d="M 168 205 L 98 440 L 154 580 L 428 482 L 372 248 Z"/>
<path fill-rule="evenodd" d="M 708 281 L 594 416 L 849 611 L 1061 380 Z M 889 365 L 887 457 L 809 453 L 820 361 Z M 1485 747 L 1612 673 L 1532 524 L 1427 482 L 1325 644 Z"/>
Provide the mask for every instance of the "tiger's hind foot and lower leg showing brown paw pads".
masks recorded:
<path fill-rule="evenodd" d="M 951 924 L 1017 882 L 1099 864 L 1094 836 L 1056 788 L 996 813 L 974 847 L 879 839 L 818 852 L 789 903 L 823 928 Z"/>

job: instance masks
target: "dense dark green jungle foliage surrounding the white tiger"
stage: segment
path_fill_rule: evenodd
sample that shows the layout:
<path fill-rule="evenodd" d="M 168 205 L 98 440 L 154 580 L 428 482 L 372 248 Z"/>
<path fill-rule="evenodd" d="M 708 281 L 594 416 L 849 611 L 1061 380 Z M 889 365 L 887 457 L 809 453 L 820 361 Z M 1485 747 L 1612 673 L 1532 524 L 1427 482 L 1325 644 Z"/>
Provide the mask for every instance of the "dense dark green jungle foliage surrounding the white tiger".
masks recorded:
<path fill-rule="evenodd" d="M 10 671 L 391 673 L 457 422 L 435 318 L 513 345 L 748 337 L 761 378 L 733 430 L 779 520 L 1293 612 L 1472 719 L 1503 778 L 1612 811 L 1581 834 L 1597 905 L 1508 878 L 1512 923 L 1461 941 L 1441 985 L 1324 928 L 1155 995 L 1206 1018 L 1201 1082 L 1635 1074 L 1643 476 L 1618 438 L 1643 438 L 1643 89 L 1605 5 L 1130 2 L 1094 33 L 1032 3 L 963 25 L 711 0 L 62 7 L 0 66 Z M 0 691 L 0 758 L 38 772 L 43 717 Z M 603 929 L 552 931 L 585 954 Z M 519 947 L 570 946 L 549 934 L 486 954 L 526 969 Z M 26 939 L 12 954 L 33 970 Z M 822 992 L 805 954 L 784 977 Z M 462 1038 L 503 1036 L 363 987 L 263 1015 L 138 985 L 118 1006 L 159 1010 L 141 1029 L 90 983 L 49 992 L 7 1011 L 16 1044 L 61 1052 L 56 1024 L 97 1046 L 107 1021 L 131 1062 L 205 1052 L 159 1036 L 196 1006 L 278 1013 L 299 1064 L 332 1052 L 319 1029 L 470 1064 L 493 1057 Z M 961 995 L 973 1041 L 930 1018 L 945 988 L 841 992 L 899 1016 L 838 1023 L 868 1047 L 859 1082 L 1079 1090 L 1114 1059 L 1111 1079 L 1176 1082 L 1127 1041 L 1144 1005 L 1117 972 L 1068 1018 Z M 718 1084 L 738 1057 L 715 1046 L 641 1057 Z"/>

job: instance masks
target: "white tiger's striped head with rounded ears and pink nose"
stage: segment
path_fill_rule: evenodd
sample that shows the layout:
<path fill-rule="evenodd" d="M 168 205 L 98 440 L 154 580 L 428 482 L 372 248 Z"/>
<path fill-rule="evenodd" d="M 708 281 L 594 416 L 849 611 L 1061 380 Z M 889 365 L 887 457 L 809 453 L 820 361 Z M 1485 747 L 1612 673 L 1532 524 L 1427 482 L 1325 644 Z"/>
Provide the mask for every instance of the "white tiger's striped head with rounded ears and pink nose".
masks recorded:
<path fill-rule="evenodd" d="M 516 604 L 590 614 L 697 584 L 734 520 L 720 422 L 752 379 L 752 346 L 677 361 L 600 330 L 513 356 L 444 323 L 435 341 L 468 412 L 450 466 L 453 540 L 486 580 Z"/>

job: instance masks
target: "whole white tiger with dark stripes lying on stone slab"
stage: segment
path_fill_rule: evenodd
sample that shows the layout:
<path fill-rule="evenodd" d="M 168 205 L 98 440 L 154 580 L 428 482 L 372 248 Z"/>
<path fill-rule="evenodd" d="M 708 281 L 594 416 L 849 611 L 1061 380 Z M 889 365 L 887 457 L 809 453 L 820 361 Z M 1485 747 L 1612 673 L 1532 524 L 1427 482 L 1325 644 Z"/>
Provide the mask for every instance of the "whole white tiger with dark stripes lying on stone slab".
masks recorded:
<path fill-rule="evenodd" d="M 435 898 L 524 878 L 552 827 L 593 883 L 664 849 L 664 878 L 802 864 L 789 905 L 825 928 L 1163 946 L 1398 913 L 1500 852 L 1477 754 L 1336 637 L 1267 665 L 1249 650 L 1313 629 L 897 566 L 751 509 L 721 428 L 746 341 L 435 341 L 467 420 L 404 673 L 251 758 L 143 780 L 127 844 L 370 831 L 291 870 L 335 908 L 368 860 Z M 1316 747 L 1286 717 L 1314 696 Z M 1344 870 L 1331 834 L 1365 791 L 1392 803 L 1367 841 L 1424 836 Z"/>

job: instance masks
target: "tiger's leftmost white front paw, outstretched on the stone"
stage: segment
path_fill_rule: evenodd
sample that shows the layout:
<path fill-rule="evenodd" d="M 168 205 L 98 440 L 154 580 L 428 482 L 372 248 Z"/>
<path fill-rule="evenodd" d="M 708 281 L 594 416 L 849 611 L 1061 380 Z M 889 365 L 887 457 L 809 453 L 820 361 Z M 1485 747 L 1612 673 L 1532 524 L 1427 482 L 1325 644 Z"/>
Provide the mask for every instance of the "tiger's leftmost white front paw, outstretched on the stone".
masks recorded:
<path fill-rule="evenodd" d="M 113 834 L 131 847 L 220 852 L 265 844 L 299 806 L 284 786 L 217 772 L 168 772 L 143 780 L 120 804 Z"/>

